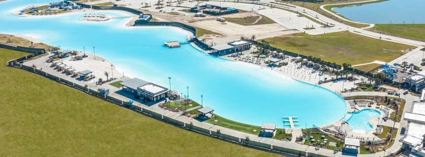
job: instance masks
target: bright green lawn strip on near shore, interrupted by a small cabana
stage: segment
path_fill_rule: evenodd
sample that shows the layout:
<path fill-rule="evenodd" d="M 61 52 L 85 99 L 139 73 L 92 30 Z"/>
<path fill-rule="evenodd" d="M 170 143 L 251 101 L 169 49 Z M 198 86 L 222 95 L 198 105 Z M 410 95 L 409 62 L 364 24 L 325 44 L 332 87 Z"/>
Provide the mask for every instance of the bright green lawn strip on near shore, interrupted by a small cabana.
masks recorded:
<path fill-rule="evenodd" d="M 214 115 L 217 116 L 216 120 L 217 120 L 218 126 L 237 130 L 237 131 L 248 133 L 248 134 L 253 134 L 253 135 L 259 135 L 260 134 L 261 126 L 254 126 L 254 125 L 249 125 L 249 124 L 245 124 L 245 123 L 240 123 L 240 122 L 236 122 L 236 121 L 226 119 L 226 118 L 221 117 L 221 116 L 216 115 L 216 114 L 214 114 Z M 211 119 L 208 119 L 204 122 L 209 123 L 209 124 L 214 124 L 214 120 L 215 120 L 215 118 L 211 118 Z M 292 134 L 285 134 L 284 132 L 280 132 L 282 130 L 281 128 L 276 128 L 276 130 L 277 130 L 276 136 L 272 137 L 273 139 L 279 139 L 280 140 L 280 139 L 283 139 L 283 138 L 286 138 L 286 137 L 292 137 Z"/>

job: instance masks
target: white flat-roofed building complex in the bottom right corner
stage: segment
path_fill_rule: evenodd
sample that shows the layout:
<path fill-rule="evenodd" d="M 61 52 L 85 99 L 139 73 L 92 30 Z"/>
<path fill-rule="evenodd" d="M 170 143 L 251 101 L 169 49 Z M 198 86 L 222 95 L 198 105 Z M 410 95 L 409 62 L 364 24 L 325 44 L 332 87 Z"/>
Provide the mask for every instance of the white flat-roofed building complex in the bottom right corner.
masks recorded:
<path fill-rule="evenodd" d="M 406 112 L 404 120 L 408 124 L 404 137 L 400 139 L 402 148 L 410 150 L 409 156 L 425 156 L 425 102 L 415 102 L 411 112 Z"/>

